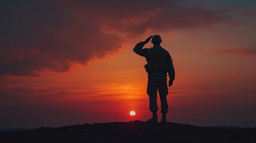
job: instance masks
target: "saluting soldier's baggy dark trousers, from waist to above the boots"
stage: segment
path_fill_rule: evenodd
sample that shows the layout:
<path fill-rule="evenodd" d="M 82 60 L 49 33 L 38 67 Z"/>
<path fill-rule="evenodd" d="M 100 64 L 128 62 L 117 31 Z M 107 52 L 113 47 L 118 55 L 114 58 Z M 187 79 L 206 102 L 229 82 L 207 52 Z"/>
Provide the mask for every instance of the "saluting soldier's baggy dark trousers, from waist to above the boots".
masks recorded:
<path fill-rule="evenodd" d="M 168 112 L 166 95 L 168 95 L 168 86 L 166 79 L 149 79 L 147 82 L 147 95 L 149 95 L 149 109 L 152 112 L 158 111 L 157 97 L 161 100 L 161 112 Z"/>

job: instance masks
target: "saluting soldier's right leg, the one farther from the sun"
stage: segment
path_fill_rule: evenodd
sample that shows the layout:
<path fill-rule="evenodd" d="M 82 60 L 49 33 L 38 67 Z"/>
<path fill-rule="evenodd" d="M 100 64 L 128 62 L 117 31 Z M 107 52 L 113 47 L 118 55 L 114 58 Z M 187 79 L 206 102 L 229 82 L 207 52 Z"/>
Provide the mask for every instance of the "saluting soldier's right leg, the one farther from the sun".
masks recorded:
<path fill-rule="evenodd" d="M 166 122 L 166 113 L 168 113 L 168 103 L 167 103 L 167 97 L 166 97 L 166 95 L 168 95 L 168 86 L 167 86 L 166 80 L 159 80 L 158 90 L 159 90 L 159 97 L 161 100 L 161 113 L 162 113 L 161 122 Z"/>

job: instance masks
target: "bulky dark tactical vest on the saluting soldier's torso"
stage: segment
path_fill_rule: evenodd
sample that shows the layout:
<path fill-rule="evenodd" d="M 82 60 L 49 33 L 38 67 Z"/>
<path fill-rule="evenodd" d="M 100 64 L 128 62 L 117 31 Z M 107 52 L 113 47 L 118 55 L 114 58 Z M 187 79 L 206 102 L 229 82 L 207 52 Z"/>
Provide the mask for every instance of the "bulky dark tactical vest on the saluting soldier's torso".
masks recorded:
<path fill-rule="evenodd" d="M 168 64 L 164 48 L 150 48 L 147 64 L 144 66 L 147 73 L 152 71 L 168 72 Z"/>

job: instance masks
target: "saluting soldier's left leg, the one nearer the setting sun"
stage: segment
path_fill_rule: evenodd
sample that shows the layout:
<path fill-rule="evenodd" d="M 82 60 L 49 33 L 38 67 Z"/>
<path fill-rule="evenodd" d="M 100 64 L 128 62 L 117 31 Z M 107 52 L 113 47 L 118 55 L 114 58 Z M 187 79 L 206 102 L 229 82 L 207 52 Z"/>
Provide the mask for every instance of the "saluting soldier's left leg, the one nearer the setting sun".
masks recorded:
<path fill-rule="evenodd" d="M 158 85 L 156 83 L 156 80 L 149 79 L 147 83 L 147 95 L 149 95 L 149 109 L 153 113 L 152 119 L 154 121 L 158 121 L 158 117 L 156 112 L 158 111 L 158 105 L 157 105 L 157 95 L 158 94 Z"/>

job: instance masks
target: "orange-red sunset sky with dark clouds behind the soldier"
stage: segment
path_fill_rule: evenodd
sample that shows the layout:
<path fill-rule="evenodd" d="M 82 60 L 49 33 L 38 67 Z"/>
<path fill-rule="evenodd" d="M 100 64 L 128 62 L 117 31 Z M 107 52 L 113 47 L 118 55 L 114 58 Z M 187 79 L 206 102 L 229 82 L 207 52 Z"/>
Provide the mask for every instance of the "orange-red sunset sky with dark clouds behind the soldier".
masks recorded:
<path fill-rule="evenodd" d="M 0 128 L 149 119 L 132 49 L 155 34 L 176 71 L 169 122 L 256 126 L 255 25 L 249 0 L 1 1 Z"/>

